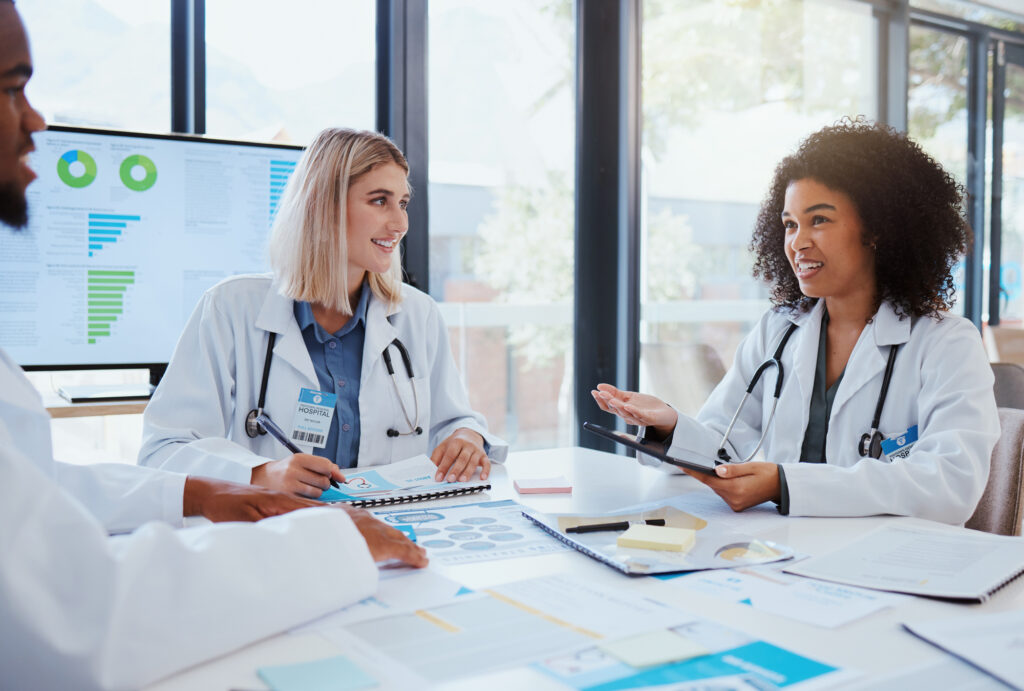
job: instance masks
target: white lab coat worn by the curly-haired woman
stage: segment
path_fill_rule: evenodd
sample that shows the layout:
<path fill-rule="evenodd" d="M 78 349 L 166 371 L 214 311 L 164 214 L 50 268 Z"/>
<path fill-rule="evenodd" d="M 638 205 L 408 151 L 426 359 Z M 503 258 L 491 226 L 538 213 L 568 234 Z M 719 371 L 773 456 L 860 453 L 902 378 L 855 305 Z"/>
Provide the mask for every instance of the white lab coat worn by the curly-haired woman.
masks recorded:
<path fill-rule="evenodd" d="M 992 372 L 978 330 L 951 314 L 900 319 L 890 304 L 883 304 L 861 332 L 836 393 L 825 442 L 828 463 L 798 463 L 823 309 L 819 300 L 802 314 L 766 313 L 696 419 L 680 416 L 669 454 L 690 449 L 715 456 L 755 371 L 796 322 L 799 329 L 781 358 L 778 409 L 763 447 L 766 461 L 785 464 L 790 515 L 896 514 L 964 523 L 985 489 L 999 436 Z M 918 425 L 919 440 L 902 459 L 861 459 L 857 443 L 870 429 L 894 343 L 902 345 L 880 431 L 887 439 L 897 438 Z M 757 445 L 771 412 L 775 377 L 774 369 L 767 370 L 746 401 L 729 438 L 733 459 L 746 458 Z"/>

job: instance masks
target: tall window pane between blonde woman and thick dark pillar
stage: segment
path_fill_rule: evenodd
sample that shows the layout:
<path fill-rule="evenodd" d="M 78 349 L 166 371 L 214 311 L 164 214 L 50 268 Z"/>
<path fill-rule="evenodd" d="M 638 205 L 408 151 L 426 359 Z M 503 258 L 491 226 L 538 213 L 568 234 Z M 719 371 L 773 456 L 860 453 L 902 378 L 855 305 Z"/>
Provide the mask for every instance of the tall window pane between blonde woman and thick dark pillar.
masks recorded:
<path fill-rule="evenodd" d="M 429 12 L 430 292 L 490 429 L 517 448 L 568 444 L 572 5 Z"/>

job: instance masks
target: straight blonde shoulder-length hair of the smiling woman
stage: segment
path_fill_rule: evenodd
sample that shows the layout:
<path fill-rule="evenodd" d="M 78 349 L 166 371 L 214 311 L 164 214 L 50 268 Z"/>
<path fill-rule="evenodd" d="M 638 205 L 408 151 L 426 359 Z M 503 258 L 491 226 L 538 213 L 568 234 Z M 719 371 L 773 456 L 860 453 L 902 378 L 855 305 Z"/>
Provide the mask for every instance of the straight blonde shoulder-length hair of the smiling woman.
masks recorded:
<path fill-rule="evenodd" d="M 348 188 L 377 166 L 409 163 L 383 134 L 332 127 L 303 153 L 282 196 L 270 231 L 270 266 L 281 294 L 351 315 L 348 300 Z M 401 300 L 401 257 L 369 274 L 374 296 Z"/>

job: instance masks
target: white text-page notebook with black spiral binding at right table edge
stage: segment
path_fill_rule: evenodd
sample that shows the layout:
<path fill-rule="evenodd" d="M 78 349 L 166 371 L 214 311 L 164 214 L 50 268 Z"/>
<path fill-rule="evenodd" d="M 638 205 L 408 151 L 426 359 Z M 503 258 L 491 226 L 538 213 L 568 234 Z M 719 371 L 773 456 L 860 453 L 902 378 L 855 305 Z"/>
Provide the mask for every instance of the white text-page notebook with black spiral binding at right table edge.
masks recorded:
<path fill-rule="evenodd" d="M 907 520 L 785 571 L 879 591 L 984 602 L 1024 573 L 1024 538 Z"/>

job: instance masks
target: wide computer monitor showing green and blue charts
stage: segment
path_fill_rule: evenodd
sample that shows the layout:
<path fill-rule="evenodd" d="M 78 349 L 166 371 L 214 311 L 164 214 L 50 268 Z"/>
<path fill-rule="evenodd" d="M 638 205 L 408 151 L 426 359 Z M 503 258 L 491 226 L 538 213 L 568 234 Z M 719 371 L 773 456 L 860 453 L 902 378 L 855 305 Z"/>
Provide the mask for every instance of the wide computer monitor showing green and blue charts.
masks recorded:
<path fill-rule="evenodd" d="M 204 291 L 268 270 L 301 147 L 77 127 L 34 139 L 29 226 L 0 226 L 0 346 L 26 370 L 162 370 Z"/>

